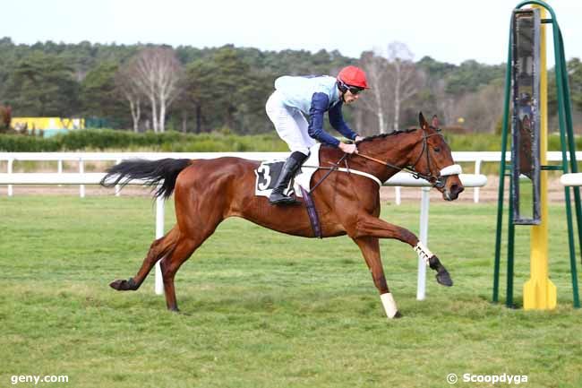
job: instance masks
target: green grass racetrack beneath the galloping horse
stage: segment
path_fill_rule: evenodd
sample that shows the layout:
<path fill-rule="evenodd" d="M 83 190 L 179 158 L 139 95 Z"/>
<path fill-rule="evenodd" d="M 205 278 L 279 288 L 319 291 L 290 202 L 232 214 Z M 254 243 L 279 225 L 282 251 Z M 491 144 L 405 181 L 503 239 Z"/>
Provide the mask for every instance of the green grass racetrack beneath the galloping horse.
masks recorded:
<path fill-rule="evenodd" d="M 461 387 L 492 386 L 464 383 L 464 374 L 581 387 L 582 312 L 571 306 L 562 207 L 551 207 L 555 311 L 491 304 L 495 204 L 432 202 L 429 246 L 455 286 L 430 273 L 427 299 L 416 301 L 414 252 L 383 241 L 404 315 L 388 321 L 347 237 L 287 237 L 227 220 L 178 272 L 176 315 L 154 295 L 153 274 L 137 292 L 107 286 L 141 265 L 154 234 L 149 199 L 3 197 L 0 387 L 13 375 L 68 375 L 68 384 L 42 385 L 441 388 L 451 373 Z M 418 211 L 416 202 L 386 204 L 382 218 L 417 232 Z M 517 228 L 518 303 L 528 230 Z"/>

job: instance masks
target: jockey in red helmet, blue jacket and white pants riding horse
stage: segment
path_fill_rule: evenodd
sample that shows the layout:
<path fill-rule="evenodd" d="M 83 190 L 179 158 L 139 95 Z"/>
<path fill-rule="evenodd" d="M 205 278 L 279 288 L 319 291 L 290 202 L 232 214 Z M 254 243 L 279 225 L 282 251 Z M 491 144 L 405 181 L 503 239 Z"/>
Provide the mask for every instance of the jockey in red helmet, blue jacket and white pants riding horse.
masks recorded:
<path fill-rule="evenodd" d="M 267 116 L 275 125 L 277 134 L 287 142 L 291 155 L 285 161 L 281 175 L 270 194 L 271 204 L 295 203 L 283 192 L 309 156 L 315 140 L 339 148 L 346 153 L 357 153 L 355 144 L 339 142 L 323 130 L 323 114 L 328 112 L 330 125 L 347 139 L 358 142 L 358 134 L 346 124 L 341 114 L 344 103 L 357 100 L 360 91 L 368 89 L 364 71 L 355 66 L 343 68 L 337 78 L 323 76 L 282 76 L 275 81 L 275 91 L 265 106 Z M 309 123 L 305 117 L 309 117 Z"/>

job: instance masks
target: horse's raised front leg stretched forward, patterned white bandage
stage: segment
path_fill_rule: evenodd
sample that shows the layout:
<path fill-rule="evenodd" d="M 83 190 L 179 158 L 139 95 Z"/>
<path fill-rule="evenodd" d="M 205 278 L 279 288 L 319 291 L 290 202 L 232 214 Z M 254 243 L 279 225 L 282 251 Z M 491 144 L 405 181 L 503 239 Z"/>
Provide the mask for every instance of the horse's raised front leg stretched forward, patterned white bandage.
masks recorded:
<path fill-rule="evenodd" d="M 355 222 L 354 230 L 348 231 L 352 238 L 359 237 L 377 237 L 377 238 L 396 238 L 412 246 L 417 254 L 423 257 L 426 264 L 436 273 L 436 280 L 443 286 L 450 287 L 453 280 L 450 279 L 449 272 L 441 264 L 439 258 L 424 246 L 422 242 L 407 228 L 401 228 L 397 225 L 390 224 L 385 220 L 378 219 L 371 215 L 358 217 Z"/>

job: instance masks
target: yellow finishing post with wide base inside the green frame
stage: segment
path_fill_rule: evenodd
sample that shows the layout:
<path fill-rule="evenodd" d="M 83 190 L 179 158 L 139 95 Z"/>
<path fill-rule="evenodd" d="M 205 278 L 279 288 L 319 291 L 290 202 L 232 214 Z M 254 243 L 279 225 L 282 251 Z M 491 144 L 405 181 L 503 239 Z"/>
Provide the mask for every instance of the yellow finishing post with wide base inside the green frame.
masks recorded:
<path fill-rule="evenodd" d="M 540 9 L 542 19 L 546 17 L 545 8 Z M 545 24 L 540 28 L 540 163 L 547 164 L 548 150 L 548 93 Z M 524 309 L 552 310 L 556 307 L 556 286 L 549 278 L 548 272 L 548 172 L 540 172 L 540 211 L 542 222 L 533 226 L 530 242 L 530 278 L 524 284 Z"/>

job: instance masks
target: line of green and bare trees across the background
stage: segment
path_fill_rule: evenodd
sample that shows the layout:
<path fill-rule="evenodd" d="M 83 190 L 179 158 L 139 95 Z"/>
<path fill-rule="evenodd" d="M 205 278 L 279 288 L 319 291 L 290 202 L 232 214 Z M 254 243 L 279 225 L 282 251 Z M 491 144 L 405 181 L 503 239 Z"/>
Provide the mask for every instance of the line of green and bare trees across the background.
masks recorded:
<path fill-rule="evenodd" d="M 264 104 L 284 74 L 335 75 L 360 65 L 372 89 L 345 116 L 364 135 L 416 125 L 419 110 L 459 132 L 500 126 L 505 65 L 460 65 L 424 56 L 403 43 L 375 47 L 359 58 L 338 51 L 261 51 L 101 45 L 90 42 L 15 45 L 0 39 L 0 106 L 12 116 L 85 117 L 88 123 L 135 132 L 272 131 Z M 582 111 L 582 64 L 569 60 L 573 106 Z M 553 75 L 550 109 L 555 113 Z M 91 120 L 93 117 L 93 120 Z"/>

